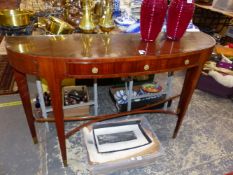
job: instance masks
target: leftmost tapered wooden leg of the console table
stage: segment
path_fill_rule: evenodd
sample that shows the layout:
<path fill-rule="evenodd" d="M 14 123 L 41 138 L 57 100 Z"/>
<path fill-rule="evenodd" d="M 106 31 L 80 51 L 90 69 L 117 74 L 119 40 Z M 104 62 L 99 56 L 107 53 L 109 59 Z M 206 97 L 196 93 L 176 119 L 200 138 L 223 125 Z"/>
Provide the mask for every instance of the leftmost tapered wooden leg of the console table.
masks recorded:
<path fill-rule="evenodd" d="M 15 76 L 15 81 L 18 85 L 19 94 L 23 103 L 23 108 L 26 114 L 27 123 L 32 135 L 32 139 L 33 142 L 36 144 L 38 143 L 38 140 L 36 135 L 36 129 L 35 129 L 34 117 L 32 113 L 32 106 L 31 106 L 28 85 L 27 85 L 26 74 L 14 70 L 14 76 Z"/>

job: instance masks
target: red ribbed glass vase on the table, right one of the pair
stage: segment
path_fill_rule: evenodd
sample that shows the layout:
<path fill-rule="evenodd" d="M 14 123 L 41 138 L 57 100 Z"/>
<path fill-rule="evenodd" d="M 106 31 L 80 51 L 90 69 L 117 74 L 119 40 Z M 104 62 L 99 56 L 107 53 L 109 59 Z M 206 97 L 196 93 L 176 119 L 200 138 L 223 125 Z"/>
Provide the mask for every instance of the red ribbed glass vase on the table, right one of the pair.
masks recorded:
<path fill-rule="evenodd" d="M 167 38 L 179 40 L 185 33 L 193 13 L 193 0 L 172 0 L 168 8 Z"/>

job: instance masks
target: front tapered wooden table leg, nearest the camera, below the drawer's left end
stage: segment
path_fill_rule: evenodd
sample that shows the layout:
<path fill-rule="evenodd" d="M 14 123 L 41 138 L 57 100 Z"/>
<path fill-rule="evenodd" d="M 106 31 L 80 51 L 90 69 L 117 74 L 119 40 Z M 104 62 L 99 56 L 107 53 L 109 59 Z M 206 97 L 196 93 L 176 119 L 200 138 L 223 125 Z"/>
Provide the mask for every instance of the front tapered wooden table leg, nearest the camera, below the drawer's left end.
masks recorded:
<path fill-rule="evenodd" d="M 64 115 L 63 115 L 63 104 L 61 98 L 61 80 L 55 78 L 47 78 L 47 82 L 51 95 L 52 108 L 55 118 L 58 141 L 60 144 L 62 160 L 64 166 L 67 166 Z"/>

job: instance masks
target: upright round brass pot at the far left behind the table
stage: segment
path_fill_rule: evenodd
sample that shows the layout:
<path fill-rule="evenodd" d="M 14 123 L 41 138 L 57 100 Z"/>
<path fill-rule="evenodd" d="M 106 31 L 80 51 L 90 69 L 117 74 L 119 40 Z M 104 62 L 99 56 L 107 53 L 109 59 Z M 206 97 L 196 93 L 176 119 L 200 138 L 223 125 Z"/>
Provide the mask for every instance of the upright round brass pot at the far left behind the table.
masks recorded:
<path fill-rule="evenodd" d="M 30 24 L 31 11 L 18 9 L 0 10 L 0 26 L 19 27 Z"/>

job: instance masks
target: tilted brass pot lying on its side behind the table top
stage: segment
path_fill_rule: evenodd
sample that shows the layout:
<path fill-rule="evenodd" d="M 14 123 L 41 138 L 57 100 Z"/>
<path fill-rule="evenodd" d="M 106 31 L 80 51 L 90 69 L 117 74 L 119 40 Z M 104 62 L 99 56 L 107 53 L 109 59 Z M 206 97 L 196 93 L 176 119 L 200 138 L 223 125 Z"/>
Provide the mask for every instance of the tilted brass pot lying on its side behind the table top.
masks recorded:
<path fill-rule="evenodd" d="M 75 30 L 75 28 L 69 23 L 53 16 L 50 16 L 49 24 L 46 28 L 49 32 L 56 35 L 70 34 L 73 33 L 73 31 Z"/>

